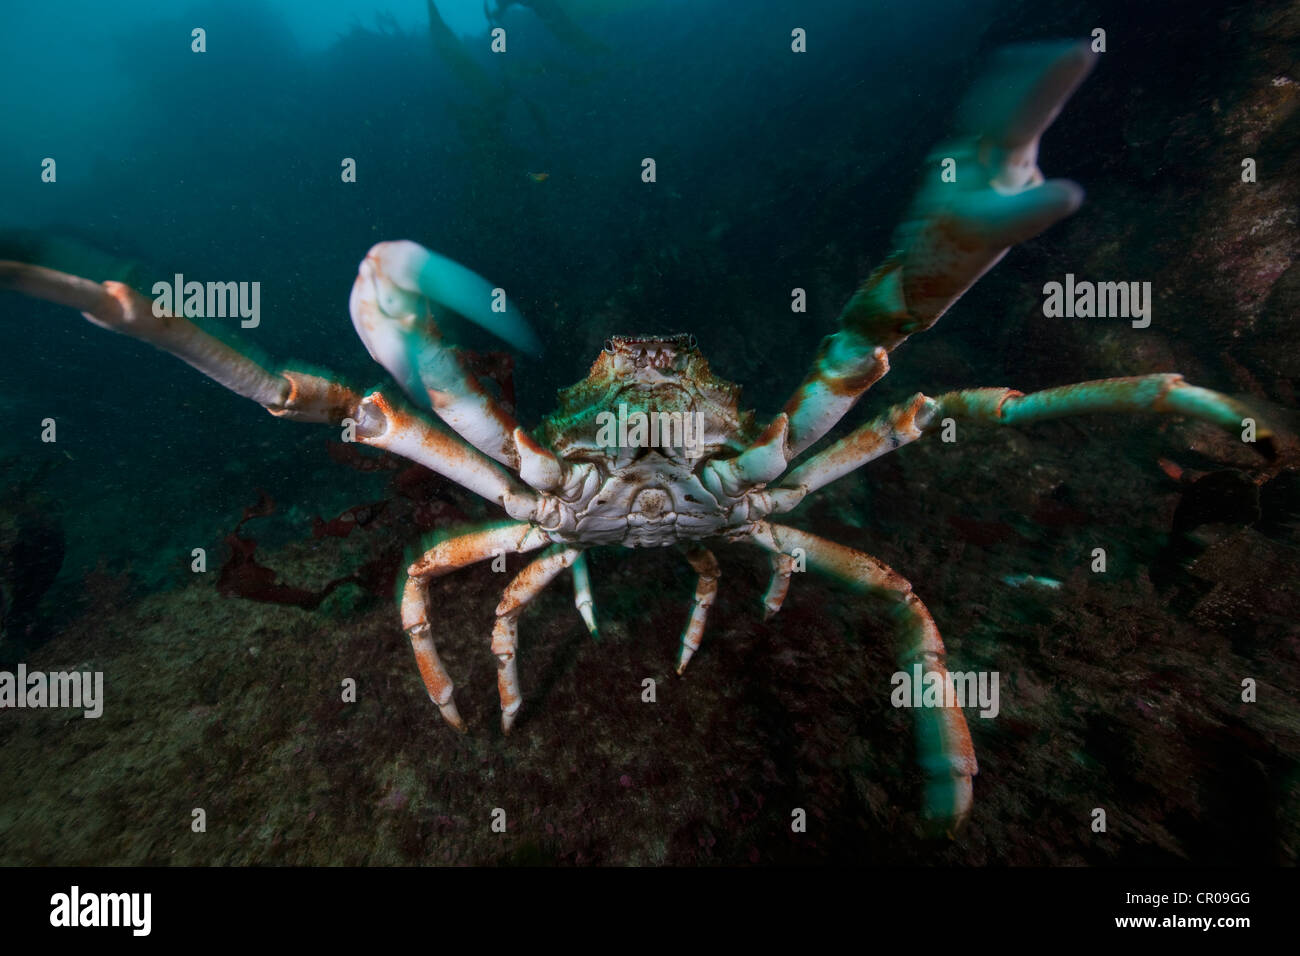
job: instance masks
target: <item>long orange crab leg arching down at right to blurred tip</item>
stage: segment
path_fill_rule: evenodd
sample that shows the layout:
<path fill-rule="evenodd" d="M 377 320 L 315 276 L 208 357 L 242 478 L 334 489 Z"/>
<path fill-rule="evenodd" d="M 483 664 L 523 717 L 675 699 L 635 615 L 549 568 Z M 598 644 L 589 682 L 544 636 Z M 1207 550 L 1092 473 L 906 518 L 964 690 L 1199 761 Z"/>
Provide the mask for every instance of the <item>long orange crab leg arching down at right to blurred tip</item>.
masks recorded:
<path fill-rule="evenodd" d="M 948 687 L 939 628 L 902 575 L 868 554 L 783 524 L 758 522 L 750 540 L 774 554 L 800 548 L 819 571 L 858 591 L 893 600 L 902 630 L 900 669 L 911 671 L 920 665 L 924 674 L 937 674 L 941 685 Z M 927 777 L 926 813 L 954 830 L 970 813 L 971 778 L 979 773 L 966 717 L 959 706 L 933 706 L 918 708 L 915 721 L 916 749 Z"/>

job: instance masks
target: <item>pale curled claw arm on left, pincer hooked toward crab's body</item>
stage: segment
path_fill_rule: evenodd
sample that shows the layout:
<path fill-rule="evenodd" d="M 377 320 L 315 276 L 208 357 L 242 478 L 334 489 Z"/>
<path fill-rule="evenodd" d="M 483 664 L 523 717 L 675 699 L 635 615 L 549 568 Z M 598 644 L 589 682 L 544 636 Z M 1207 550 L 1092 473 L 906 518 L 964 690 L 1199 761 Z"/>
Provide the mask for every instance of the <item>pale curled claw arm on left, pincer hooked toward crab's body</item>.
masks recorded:
<path fill-rule="evenodd" d="M 481 276 L 402 239 L 381 242 L 365 254 L 348 310 L 370 356 L 412 397 L 474 447 L 502 464 L 519 467 L 515 419 L 464 367 L 460 352 L 442 342 L 430 311 L 447 306 L 507 342 L 537 351 L 538 341 L 514 306 L 493 308 L 494 289 Z"/>

